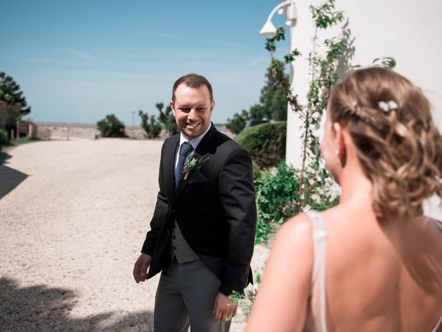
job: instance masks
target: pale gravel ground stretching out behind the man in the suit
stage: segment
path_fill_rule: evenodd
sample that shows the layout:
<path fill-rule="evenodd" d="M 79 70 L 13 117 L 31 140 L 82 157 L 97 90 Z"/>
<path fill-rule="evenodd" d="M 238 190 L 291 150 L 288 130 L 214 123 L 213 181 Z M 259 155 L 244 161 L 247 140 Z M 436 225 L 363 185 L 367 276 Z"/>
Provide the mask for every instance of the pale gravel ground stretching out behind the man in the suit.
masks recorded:
<path fill-rule="evenodd" d="M 0 164 L 0 331 L 152 331 L 135 284 L 162 141 L 33 142 Z M 268 249 L 256 246 L 252 266 Z M 233 332 L 244 321 L 233 321 Z"/>

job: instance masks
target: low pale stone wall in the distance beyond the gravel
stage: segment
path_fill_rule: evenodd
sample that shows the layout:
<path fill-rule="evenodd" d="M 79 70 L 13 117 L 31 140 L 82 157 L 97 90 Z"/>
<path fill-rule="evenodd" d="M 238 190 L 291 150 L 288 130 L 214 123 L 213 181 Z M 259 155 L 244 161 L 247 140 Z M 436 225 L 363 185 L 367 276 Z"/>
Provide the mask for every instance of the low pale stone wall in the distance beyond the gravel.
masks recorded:
<path fill-rule="evenodd" d="M 37 126 L 38 138 L 41 140 L 67 140 L 68 138 L 89 138 L 93 140 L 99 137 L 99 130 L 95 124 L 37 123 Z M 216 128 L 231 138 L 235 136 L 224 125 L 217 124 Z M 126 127 L 126 135 L 137 140 L 146 138 L 146 133 L 140 126 Z M 164 131 L 160 138 L 166 138 Z"/>

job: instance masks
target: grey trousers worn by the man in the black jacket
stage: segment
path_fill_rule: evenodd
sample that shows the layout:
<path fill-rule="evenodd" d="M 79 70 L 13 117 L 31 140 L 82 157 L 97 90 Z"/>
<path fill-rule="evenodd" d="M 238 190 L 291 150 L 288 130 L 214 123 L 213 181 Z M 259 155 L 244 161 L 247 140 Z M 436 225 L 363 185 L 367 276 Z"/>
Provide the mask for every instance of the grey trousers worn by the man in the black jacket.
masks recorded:
<path fill-rule="evenodd" d="M 228 332 L 231 322 L 213 322 L 218 279 L 200 259 L 165 268 L 155 296 L 154 332 Z"/>

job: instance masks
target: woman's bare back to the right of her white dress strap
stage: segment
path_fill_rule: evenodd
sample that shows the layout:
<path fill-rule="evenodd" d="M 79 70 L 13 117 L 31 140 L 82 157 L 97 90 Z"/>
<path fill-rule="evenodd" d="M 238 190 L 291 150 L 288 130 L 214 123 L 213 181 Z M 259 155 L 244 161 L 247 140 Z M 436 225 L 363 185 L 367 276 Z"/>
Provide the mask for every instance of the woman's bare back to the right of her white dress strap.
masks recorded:
<path fill-rule="evenodd" d="M 436 221 L 421 216 L 380 223 L 363 202 L 339 205 L 323 219 L 327 330 L 432 331 L 442 315 Z"/>

